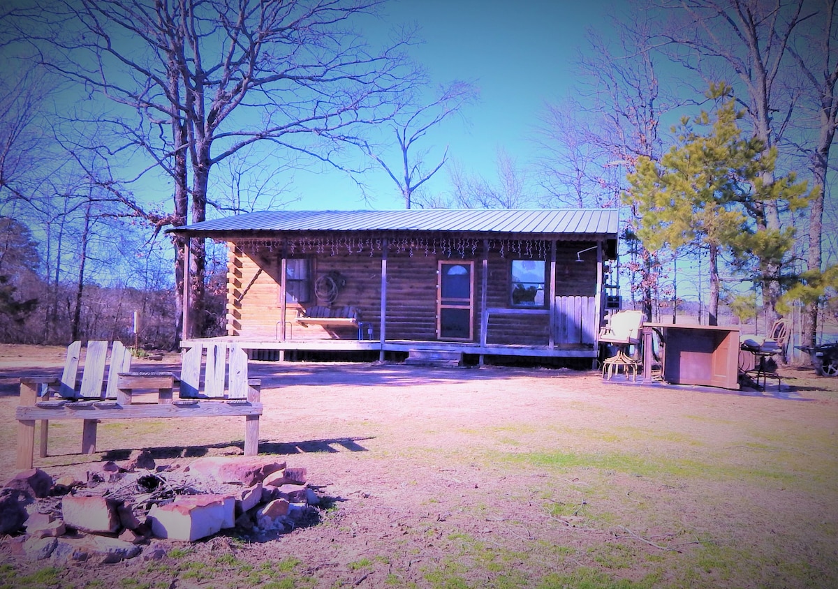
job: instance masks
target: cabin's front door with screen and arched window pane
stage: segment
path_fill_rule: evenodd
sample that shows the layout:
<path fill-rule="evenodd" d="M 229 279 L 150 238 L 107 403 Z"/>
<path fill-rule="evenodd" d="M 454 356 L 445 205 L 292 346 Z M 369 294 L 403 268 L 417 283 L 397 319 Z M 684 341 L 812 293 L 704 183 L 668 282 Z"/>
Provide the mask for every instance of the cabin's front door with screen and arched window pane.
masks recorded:
<path fill-rule="evenodd" d="M 440 261 L 437 337 L 471 341 L 474 335 L 474 262 Z"/>

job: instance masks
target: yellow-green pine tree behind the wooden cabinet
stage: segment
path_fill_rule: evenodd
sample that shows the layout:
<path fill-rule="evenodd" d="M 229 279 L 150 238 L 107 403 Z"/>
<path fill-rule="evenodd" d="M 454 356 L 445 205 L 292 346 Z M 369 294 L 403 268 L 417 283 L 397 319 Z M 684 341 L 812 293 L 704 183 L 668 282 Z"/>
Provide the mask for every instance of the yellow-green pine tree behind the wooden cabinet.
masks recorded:
<path fill-rule="evenodd" d="M 683 118 L 673 129 L 676 145 L 660 163 L 639 158 L 623 202 L 639 209 L 638 236 L 649 250 L 693 245 L 706 252 L 709 323 L 716 325 L 722 261 L 749 272 L 763 288 L 779 282 L 767 269 L 781 266 L 794 244 L 794 228 L 759 229 L 758 214 L 768 202 L 799 209 L 811 195 L 794 173 L 774 176 L 775 149 L 765 150 L 756 137 L 742 138 L 737 121 L 743 113 L 727 85 L 712 85 L 708 97 L 716 101 L 713 115 L 701 111 L 692 120 Z"/>

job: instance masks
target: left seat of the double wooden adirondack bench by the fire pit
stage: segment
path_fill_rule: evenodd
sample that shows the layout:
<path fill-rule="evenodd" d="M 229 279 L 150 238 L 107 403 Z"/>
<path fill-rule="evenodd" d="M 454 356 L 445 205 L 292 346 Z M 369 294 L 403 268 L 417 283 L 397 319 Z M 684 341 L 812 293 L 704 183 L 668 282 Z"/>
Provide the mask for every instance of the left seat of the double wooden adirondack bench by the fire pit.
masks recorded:
<path fill-rule="evenodd" d="M 85 366 L 81 381 L 77 381 L 81 342 L 75 341 L 67 347 L 64 370 L 60 378 L 54 376 L 31 376 L 20 380 L 20 406 L 52 408 L 67 403 L 89 404 L 99 400 L 116 399 L 116 375 L 131 368 L 131 352 L 122 342 L 114 342 L 111 349 L 111 363 L 107 385 L 105 367 L 108 343 L 91 341 L 87 344 Z M 50 400 L 58 397 L 56 400 Z M 26 411 L 26 410 L 24 410 Z M 48 414 L 49 415 L 49 414 Z M 40 456 L 47 456 L 49 419 L 41 419 Z M 82 452 L 91 452 L 90 440 L 96 440 L 97 421 L 85 420 L 82 433 Z M 18 420 L 18 468 L 32 468 L 34 454 L 35 420 Z"/>

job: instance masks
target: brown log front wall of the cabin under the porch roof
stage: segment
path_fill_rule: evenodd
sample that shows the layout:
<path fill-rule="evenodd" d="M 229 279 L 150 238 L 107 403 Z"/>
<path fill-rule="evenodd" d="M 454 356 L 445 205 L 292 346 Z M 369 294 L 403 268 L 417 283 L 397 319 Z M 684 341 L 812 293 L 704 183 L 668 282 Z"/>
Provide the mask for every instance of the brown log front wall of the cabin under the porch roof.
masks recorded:
<path fill-rule="evenodd" d="M 278 242 L 277 242 L 278 243 Z M 582 255 L 577 263 L 576 252 L 592 245 L 590 242 L 559 242 L 556 247 L 556 285 L 545 294 L 545 303 L 552 296 L 586 296 L 596 293 L 596 251 Z M 279 338 L 282 332 L 281 261 L 280 245 L 230 246 L 228 258 L 227 331 L 230 335 L 253 338 Z M 541 252 L 543 254 L 543 251 Z M 473 254 L 473 255 L 472 255 Z M 299 255 L 298 255 L 299 256 Z M 483 248 L 468 251 L 467 256 L 425 255 L 424 251 L 390 251 L 387 261 L 387 339 L 419 341 L 437 340 L 437 264 L 445 261 L 474 261 L 474 341 L 479 342 L 481 287 L 483 282 Z M 371 323 L 374 338 L 380 334 L 381 254 L 331 252 L 312 254 L 312 282 L 317 276 L 337 271 L 345 278 L 333 306 L 352 306 L 360 311 L 361 320 Z M 549 248 L 546 254 L 546 274 L 550 274 Z M 494 245 L 489 251 L 488 288 L 486 304 L 489 315 L 488 344 L 546 345 L 550 341 L 549 307 L 539 310 L 510 309 L 510 266 L 513 259 L 529 256 L 504 251 Z M 318 304 L 314 300 L 305 306 Z M 301 305 L 288 302 L 286 309 L 286 339 L 297 338 L 357 338 L 354 328 L 296 323 Z M 496 312 L 495 312 L 496 311 Z M 277 323 L 279 327 L 277 328 Z M 598 328 L 598 326 L 596 327 Z"/>

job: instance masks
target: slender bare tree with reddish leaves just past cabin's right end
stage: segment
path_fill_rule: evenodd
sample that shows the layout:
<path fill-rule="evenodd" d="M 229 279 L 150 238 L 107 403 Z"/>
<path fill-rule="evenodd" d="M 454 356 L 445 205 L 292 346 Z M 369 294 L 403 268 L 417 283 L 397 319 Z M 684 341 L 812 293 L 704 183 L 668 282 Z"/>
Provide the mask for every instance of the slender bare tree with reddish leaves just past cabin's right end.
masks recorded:
<path fill-rule="evenodd" d="M 581 111 L 569 119 L 590 120 L 569 129 L 547 131 L 551 142 L 561 149 L 588 143 L 601 172 L 588 178 L 585 190 L 601 194 L 606 202 L 613 202 L 626 185 L 626 175 L 634 173 L 639 158 L 657 161 L 663 152 L 661 118 L 681 106 L 683 99 L 662 85 L 660 54 L 652 41 L 657 23 L 653 12 L 633 9 L 631 13 L 613 18 L 615 36 L 605 36 L 590 30 L 587 48 L 577 58 Z M 549 119 L 548 119 L 549 120 Z M 548 135 L 548 137 L 550 137 Z M 582 152 L 577 151 L 579 157 Z M 582 169 L 582 164 L 575 164 Z M 587 170 L 587 168 L 585 168 Z M 593 180 L 593 182 L 590 182 Z M 639 294 L 639 306 L 646 317 L 654 312 L 654 288 L 660 282 L 660 264 L 654 252 L 648 251 L 637 239 L 639 210 L 629 204 L 630 218 L 623 229 L 623 242 L 628 247 L 628 271 L 632 298 Z"/>

